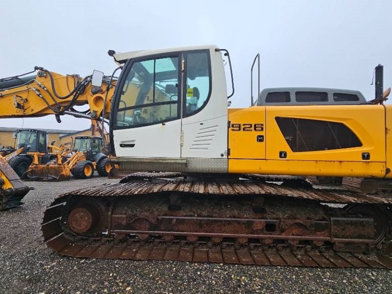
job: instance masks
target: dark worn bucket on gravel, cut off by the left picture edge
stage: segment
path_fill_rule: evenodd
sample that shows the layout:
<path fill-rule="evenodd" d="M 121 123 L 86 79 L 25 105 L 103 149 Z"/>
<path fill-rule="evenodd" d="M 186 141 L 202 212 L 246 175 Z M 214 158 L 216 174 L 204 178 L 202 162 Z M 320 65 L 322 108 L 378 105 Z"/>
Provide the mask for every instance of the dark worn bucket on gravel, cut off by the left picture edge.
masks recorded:
<path fill-rule="evenodd" d="M 22 205 L 32 188 L 27 187 L 10 165 L 0 156 L 0 210 Z"/>

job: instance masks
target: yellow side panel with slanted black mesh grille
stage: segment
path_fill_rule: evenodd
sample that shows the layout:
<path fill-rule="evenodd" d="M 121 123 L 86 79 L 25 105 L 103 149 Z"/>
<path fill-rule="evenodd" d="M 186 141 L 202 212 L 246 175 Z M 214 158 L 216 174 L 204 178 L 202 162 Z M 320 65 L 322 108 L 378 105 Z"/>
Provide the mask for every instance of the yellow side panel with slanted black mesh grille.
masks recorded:
<path fill-rule="evenodd" d="M 270 106 L 266 114 L 267 159 L 386 161 L 381 105 Z"/>

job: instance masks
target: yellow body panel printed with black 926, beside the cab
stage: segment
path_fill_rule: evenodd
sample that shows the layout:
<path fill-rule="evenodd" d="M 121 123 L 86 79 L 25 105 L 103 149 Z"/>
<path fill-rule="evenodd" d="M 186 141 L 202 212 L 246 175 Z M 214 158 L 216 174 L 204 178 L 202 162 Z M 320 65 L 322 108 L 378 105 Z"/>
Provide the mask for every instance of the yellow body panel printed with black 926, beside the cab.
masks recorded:
<path fill-rule="evenodd" d="M 264 106 L 230 109 L 229 158 L 263 159 L 266 156 Z M 259 141 L 258 140 L 259 138 Z"/>

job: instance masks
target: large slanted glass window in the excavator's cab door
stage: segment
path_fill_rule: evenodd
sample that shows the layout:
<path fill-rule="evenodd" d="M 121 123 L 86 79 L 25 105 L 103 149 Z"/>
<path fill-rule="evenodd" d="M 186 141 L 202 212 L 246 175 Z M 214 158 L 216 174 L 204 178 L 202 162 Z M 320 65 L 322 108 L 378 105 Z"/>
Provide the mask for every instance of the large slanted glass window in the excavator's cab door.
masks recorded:
<path fill-rule="evenodd" d="M 123 85 L 117 126 L 137 127 L 179 118 L 178 56 L 134 62 Z"/>

